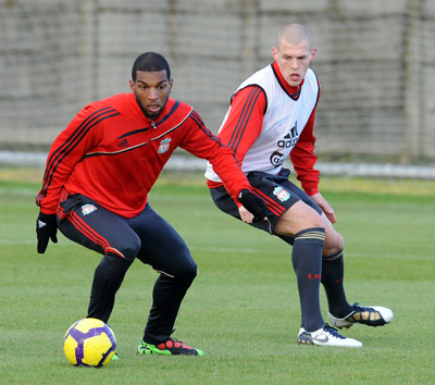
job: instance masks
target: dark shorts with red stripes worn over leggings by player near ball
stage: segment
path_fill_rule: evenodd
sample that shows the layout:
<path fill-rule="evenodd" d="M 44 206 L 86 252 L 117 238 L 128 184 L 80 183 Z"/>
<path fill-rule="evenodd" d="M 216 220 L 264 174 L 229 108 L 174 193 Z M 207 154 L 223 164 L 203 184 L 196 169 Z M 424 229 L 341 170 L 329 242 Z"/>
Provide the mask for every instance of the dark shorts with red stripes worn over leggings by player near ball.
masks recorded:
<path fill-rule="evenodd" d="M 58 218 L 64 236 L 99 253 L 115 252 L 130 262 L 137 258 L 174 277 L 196 273 L 183 238 L 148 203 L 137 216 L 127 219 L 75 194 L 60 202 Z"/>

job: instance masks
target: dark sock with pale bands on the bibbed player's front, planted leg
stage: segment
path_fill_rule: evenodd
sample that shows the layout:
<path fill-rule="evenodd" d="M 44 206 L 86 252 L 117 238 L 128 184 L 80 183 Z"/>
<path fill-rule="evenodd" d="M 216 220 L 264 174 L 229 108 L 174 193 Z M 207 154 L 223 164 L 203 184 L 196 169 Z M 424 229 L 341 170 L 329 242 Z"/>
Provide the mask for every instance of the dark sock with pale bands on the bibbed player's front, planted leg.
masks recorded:
<path fill-rule="evenodd" d="M 298 282 L 301 326 L 307 332 L 314 332 L 324 324 L 319 299 L 324 239 L 324 228 L 307 228 L 295 235 L 293 246 L 291 262 Z"/>

